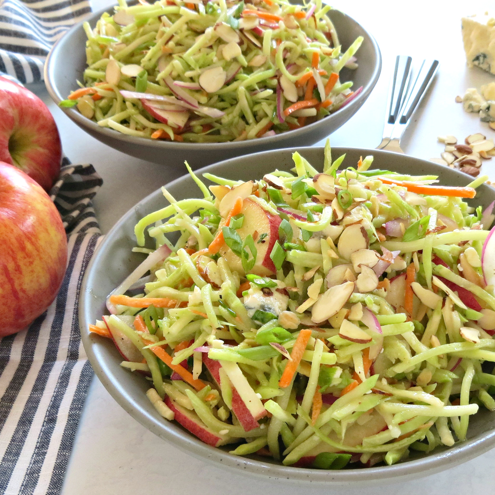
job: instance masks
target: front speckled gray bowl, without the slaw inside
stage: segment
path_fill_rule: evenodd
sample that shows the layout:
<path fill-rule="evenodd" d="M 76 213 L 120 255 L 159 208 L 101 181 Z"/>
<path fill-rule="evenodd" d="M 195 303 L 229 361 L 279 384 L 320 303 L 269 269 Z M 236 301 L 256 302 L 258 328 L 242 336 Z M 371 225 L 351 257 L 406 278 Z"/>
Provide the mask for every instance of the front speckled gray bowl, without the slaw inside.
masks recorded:
<path fill-rule="evenodd" d="M 210 165 L 201 172 L 234 180 L 260 179 L 264 174 L 290 170 L 293 149 L 265 151 L 232 158 Z M 299 148 L 318 170 L 323 168 L 323 148 Z M 333 156 L 347 153 L 344 165 L 355 165 L 359 156 L 373 154 L 373 168 L 393 170 L 399 173 L 434 174 L 442 184 L 465 186 L 472 177 L 433 162 L 403 154 L 376 149 L 334 148 Z M 208 181 L 205 181 L 208 182 Z M 177 199 L 201 197 L 191 177 L 184 176 L 167 185 L 168 191 Z M 471 205 L 488 206 L 495 200 L 495 190 L 487 185 L 478 188 Z M 384 484 L 427 476 L 468 461 L 495 446 L 495 413 L 480 410 L 470 418 L 468 437 L 465 442 L 450 448 L 439 448 L 427 455 L 413 453 L 409 460 L 393 466 L 354 468 L 342 471 L 283 466 L 265 457 L 239 457 L 228 452 L 232 447 L 215 448 L 203 444 L 175 422 L 163 419 L 149 402 L 145 392 L 149 388 L 144 376 L 133 374 L 120 366 L 122 358 L 113 343 L 88 331 L 88 325 L 101 319 L 106 313 L 105 299 L 120 282 L 142 261 L 143 255 L 131 252 L 136 245 L 134 226 L 146 214 L 166 204 L 160 190 L 155 191 L 129 210 L 105 236 L 91 260 L 83 280 L 79 300 L 79 318 L 84 348 L 103 386 L 113 398 L 137 421 L 174 446 L 199 459 L 239 472 L 265 479 L 279 479 L 287 483 L 318 484 Z"/>

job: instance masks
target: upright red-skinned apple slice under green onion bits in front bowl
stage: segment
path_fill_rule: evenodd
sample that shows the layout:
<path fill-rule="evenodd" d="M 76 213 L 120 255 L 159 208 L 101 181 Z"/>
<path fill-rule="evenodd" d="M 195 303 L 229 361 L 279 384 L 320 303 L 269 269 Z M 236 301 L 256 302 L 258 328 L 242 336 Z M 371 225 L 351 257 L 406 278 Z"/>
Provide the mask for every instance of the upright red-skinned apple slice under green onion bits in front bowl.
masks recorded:
<path fill-rule="evenodd" d="M 270 258 L 270 253 L 275 242 L 279 240 L 278 231 L 282 219 L 278 215 L 268 213 L 258 203 L 250 199 L 244 200 L 241 213 L 244 215 L 244 223 L 240 229 L 237 229 L 241 239 L 244 241 L 249 234 L 254 237 L 254 233 L 257 232 L 257 237 L 254 240 L 257 249 L 256 263 L 251 269 L 251 273 L 261 277 L 273 275 L 277 270 Z M 260 241 L 262 234 L 267 235 Z M 227 260 L 231 270 L 239 272 L 240 275 L 245 274 L 241 258 L 226 244 L 220 248 L 220 255 Z"/>

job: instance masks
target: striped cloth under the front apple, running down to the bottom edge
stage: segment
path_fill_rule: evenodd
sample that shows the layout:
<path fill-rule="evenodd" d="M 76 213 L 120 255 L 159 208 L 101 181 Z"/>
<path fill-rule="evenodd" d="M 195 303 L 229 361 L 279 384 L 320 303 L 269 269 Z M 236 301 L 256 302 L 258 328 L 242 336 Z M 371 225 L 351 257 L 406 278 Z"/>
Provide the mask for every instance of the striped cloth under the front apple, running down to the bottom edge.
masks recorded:
<path fill-rule="evenodd" d="M 79 334 L 77 301 L 98 246 L 92 165 L 64 161 L 52 199 L 68 233 L 62 287 L 29 330 L 0 340 L 0 494 L 56 495 L 92 378 Z"/>

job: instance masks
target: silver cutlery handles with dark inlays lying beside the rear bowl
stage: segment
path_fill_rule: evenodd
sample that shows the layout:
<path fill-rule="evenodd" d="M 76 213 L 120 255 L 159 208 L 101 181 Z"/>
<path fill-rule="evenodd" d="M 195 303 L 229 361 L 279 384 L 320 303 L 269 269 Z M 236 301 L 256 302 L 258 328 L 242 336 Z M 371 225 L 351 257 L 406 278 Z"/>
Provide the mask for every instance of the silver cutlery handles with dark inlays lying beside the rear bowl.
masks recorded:
<path fill-rule="evenodd" d="M 415 78 L 411 77 L 411 65 L 411 57 L 397 55 L 387 98 L 383 138 L 377 149 L 404 152 L 400 148 L 400 139 L 419 102 L 433 81 L 439 62 L 438 60 L 423 60 Z"/>

